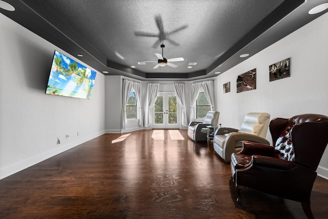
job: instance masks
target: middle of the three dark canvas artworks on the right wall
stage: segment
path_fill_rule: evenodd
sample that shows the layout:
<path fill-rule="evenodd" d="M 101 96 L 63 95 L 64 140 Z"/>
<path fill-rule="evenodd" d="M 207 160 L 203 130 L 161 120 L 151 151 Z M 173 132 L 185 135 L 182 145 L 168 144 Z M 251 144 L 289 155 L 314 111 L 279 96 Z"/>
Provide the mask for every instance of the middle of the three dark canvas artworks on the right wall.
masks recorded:
<path fill-rule="evenodd" d="M 237 76 L 237 93 L 256 89 L 256 68 Z"/>

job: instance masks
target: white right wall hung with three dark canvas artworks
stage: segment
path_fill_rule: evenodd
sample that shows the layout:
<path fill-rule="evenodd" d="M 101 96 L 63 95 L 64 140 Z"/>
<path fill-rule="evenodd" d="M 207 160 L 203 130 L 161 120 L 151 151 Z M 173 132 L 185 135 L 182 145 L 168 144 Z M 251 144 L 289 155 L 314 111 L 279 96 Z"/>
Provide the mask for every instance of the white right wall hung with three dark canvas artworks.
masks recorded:
<path fill-rule="evenodd" d="M 248 112 L 269 112 L 271 118 L 304 113 L 328 115 L 328 13 L 217 76 L 217 109 L 222 126 L 240 127 Z M 290 77 L 269 82 L 269 66 L 291 58 Z M 236 93 L 236 77 L 256 68 L 256 90 Z M 231 92 L 223 94 L 223 84 Z M 267 140 L 271 141 L 268 131 Z M 328 149 L 318 174 L 328 178 Z"/>

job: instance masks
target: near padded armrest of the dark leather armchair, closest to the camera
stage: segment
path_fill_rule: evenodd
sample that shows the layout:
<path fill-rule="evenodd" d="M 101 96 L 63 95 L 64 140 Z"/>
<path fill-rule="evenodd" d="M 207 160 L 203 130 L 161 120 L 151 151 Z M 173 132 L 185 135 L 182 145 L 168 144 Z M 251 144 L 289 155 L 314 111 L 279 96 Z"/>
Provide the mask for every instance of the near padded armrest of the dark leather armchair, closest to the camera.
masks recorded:
<path fill-rule="evenodd" d="M 268 156 L 260 156 L 260 155 L 252 155 L 253 166 L 256 167 L 267 167 L 273 169 L 280 169 L 280 170 L 289 170 L 295 166 L 294 162 L 282 160 L 275 157 L 268 157 Z"/>

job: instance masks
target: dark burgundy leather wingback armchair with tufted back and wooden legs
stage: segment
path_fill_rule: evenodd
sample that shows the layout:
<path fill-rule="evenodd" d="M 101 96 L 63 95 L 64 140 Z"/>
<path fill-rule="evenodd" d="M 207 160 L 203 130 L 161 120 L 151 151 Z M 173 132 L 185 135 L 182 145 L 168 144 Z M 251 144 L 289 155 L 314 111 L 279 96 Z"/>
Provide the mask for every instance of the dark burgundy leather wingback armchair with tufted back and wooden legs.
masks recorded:
<path fill-rule="evenodd" d="M 240 186 L 301 202 L 314 218 L 310 195 L 316 169 L 328 144 L 328 117 L 318 114 L 275 118 L 270 122 L 274 146 L 244 142 L 231 155 L 232 179 L 240 199 Z"/>

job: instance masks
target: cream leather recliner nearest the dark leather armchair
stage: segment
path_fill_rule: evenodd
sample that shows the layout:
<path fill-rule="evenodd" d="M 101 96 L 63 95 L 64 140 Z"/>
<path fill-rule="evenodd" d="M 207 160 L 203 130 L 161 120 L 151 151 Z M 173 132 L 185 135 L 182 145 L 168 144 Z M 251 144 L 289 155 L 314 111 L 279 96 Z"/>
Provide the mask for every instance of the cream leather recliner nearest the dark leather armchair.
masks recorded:
<path fill-rule="evenodd" d="M 240 129 L 220 128 L 216 130 L 213 139 L 214 151 L 224 161 L 231 161 L 231 154 L 242 149 L 242 142 L 256 142 L 270 145 L 265 139 L 270 122 L 270 114 L 265 112 L 250 112 L 244 117 Z"/>

